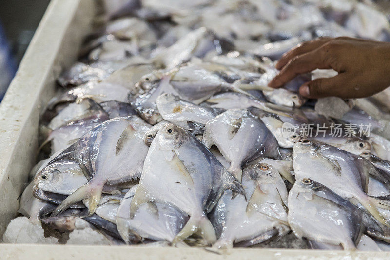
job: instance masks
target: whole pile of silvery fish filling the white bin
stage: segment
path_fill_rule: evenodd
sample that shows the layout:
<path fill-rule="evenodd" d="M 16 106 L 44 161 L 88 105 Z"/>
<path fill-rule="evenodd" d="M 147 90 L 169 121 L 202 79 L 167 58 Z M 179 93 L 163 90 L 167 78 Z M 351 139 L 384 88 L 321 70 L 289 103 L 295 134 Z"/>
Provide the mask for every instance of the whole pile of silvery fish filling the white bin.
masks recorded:
<path fill-rule="evenodd" d="M 390 40 L 374 5 L 102 2 L 97 30 L 41 117 L 48 158 L 31 171 L 20 213 L 111 244 L 226 248 L 289 237 L 304 248 L 389 249 L 390 91 L 301 97 L 303 82 L 332 74 L 324 70 L 267 87 L 274 61 L 301 41 Z M 340 136 L 330 134 L 336 123 Z M 296 132 L 286 135 L 286 124 Z M 327 135 L 305 135 L 308 124 Z"/>

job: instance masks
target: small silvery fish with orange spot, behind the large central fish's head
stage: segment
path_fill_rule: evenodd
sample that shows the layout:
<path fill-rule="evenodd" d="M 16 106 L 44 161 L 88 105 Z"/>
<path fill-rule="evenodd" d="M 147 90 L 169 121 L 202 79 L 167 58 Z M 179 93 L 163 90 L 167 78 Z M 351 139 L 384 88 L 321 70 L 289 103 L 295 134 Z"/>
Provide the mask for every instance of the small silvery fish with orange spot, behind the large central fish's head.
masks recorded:
<path fill-rule="evenodd" d="M 167 93 L 160 95 L 156 104 L 164 120 L 196 133 L 202 132 L 204 125 L 218 114 L 215 109 L 195 105 Z"/>

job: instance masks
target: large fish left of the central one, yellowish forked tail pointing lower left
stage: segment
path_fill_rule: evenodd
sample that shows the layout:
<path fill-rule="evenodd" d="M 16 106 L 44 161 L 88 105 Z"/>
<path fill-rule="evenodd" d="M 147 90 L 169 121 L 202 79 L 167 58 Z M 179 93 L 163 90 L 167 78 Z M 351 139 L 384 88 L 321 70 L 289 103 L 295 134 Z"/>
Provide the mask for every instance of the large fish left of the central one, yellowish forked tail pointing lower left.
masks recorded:
<path fill-rule="evenodd" d="M 143 136 L 149 128 L 150 125 L 137 116 L 107 120 L 49 162 L 50 166 L 59 160 L 73 160 L 90 176 L 88 183 L 63 200 L 52 216 L 83 199 L 89 200 L 89 214 L 92 215 L 104 184 L 124 183 L 139 178 L 148 151 Z"/>

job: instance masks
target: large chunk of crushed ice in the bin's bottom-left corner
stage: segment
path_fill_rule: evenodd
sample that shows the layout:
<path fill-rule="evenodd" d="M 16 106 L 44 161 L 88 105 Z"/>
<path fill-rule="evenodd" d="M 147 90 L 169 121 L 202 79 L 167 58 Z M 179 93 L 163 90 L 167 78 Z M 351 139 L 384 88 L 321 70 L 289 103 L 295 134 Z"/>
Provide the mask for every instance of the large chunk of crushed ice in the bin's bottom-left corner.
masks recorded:
<path fill-rule="evenodd" d="M 4 243 L 41 243 L 56 244 L 58 239 L 45 238 L 43 229 L 31 223 L 26 217 L 19 217 L 11 220 L 3 236 Z"/>

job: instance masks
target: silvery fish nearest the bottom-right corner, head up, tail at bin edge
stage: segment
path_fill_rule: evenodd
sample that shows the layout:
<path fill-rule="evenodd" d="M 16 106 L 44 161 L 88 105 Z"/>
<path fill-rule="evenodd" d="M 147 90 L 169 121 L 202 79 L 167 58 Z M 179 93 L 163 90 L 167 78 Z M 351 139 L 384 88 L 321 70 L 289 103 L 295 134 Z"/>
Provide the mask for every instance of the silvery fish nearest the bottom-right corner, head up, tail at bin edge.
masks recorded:
<path fill-rule="evenodd" d="M 328 187 L 299 179 L 289 192 L 288 222 L 299 237 L 356 250 L 364 231 L 363 212 Z"/>

